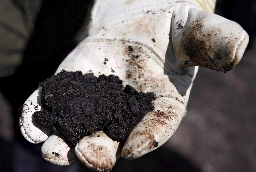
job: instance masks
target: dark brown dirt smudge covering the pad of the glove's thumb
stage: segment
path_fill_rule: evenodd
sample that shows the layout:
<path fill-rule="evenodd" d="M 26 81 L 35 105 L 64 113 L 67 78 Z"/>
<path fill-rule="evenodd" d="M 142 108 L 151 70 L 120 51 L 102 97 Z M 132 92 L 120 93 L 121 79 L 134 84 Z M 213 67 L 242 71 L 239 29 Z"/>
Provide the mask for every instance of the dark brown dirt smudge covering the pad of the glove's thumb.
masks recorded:
<path fill-rule="evenodd" d="M 218 26 L 206 26 L 205 15 L 186 26 L 182 33 L 181 48 L 189 57 L 182 67 L 202 66 L 217 71 L 229 71 L 232 67 L 230 37 L 222 35 Z M 179 28 L 179 27 L 178 27 Z M 219 36 L 221 35 L 221 36 Z M 182 55 L 182 54 L 181 54 Z"/>

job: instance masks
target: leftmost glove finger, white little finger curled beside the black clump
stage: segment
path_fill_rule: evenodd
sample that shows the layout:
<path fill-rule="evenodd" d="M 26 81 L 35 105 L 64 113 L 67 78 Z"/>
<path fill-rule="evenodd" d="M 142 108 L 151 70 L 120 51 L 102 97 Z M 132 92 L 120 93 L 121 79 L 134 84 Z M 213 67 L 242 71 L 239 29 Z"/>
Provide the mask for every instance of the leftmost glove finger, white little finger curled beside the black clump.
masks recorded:
<path fill-rule="evenodd" d="M 21 133 L 25 139 L 31 143 L 44 142 L 52 133 L 37 124 L 32 118 L 35 111 L 39 111 L 43 108 L 40 97 L 41 91 L 42 87 L 39 87 L 25 101 L 19 119 Z"/>

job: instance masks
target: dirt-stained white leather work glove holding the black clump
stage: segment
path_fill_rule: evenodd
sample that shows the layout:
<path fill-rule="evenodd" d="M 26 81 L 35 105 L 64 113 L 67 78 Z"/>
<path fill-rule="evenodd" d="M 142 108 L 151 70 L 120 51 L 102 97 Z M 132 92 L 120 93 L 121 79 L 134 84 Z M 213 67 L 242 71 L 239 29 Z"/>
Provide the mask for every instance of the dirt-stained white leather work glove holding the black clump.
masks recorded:
<path fill-rule="evenodd" d="M 134 159 L 161 146 L 186 114 L 198 66 L 229 71 L 248 44 L 248 34 L 239 24 L 201 10 L 212 12 L 213 6 L 212 0 L 96 1 L 89 36 L 66 57 L 56 74 L 65 69 L 117 75 L 124 85 L 154 92 L 154 111 L 135 126 L 124 146 L 98 131 L 73 149 L 60 134 L 43 129 L 31 118 L 43 109 L 38 88 L 26 100 L 20 116 L 24 137 L 31 143 L 44 142 L 42 155 L 49 162 L 69 165 L 77 157 L 97 171 L 110 171 L 120 155 Z"/>

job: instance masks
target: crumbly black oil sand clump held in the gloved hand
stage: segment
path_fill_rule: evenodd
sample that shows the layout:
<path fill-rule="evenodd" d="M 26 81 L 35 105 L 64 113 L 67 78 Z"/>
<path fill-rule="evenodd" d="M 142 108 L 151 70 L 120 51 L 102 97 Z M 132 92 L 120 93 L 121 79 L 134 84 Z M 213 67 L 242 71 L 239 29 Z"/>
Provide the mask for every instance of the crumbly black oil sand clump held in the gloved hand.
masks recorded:
<path fill-rule="evenodd" d="M 93 76 L 62 71 L 39 84 L 46 110 L 33 118 L 64 135 L 74 146 L 84 136 L 103 130 L 113 140 L 125 140 L 139 120 L 154 110 L 153 93 L 137 92 L 114 75 Z"/>

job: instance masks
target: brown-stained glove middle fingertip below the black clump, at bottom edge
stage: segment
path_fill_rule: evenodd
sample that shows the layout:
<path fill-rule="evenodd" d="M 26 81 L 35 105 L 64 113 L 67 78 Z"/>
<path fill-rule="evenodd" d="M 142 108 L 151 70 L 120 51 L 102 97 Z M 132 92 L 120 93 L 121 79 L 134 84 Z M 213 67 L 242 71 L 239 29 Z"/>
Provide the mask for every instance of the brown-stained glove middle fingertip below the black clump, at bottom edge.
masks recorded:
<path fill-rule="evenodd" d="M 77 158 L 95 171 L 111 171 L 117 159 L 119 142 L 110 139 L 103 131 L 85 136 L 75 147 Z"/>

